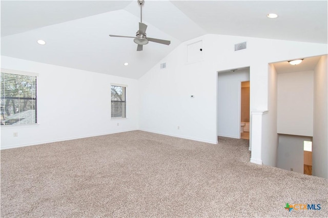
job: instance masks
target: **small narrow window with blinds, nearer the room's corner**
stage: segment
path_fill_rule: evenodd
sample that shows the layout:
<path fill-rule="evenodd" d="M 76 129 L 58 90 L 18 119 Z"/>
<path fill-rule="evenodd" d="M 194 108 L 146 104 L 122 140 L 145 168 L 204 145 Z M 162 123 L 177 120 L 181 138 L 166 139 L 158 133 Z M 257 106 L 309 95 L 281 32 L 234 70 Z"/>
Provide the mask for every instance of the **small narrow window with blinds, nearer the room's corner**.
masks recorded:
<path fill-rule="evenodd" d="M 111 117 L 125 118 L 126 117 L 126 87 L 111 86 Z"/>

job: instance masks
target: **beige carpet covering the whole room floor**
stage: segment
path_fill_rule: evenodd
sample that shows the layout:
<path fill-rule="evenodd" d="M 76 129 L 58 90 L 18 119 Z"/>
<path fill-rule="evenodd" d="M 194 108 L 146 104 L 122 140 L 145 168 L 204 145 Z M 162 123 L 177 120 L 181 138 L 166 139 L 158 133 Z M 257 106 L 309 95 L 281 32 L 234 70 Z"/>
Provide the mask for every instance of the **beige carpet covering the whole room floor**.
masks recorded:
<path fill-rule="evenodd" d="M 2 150 L 1 216 L 328 216 L 327 180 L 249 159 L 245 139 L 142 131 Z"/>

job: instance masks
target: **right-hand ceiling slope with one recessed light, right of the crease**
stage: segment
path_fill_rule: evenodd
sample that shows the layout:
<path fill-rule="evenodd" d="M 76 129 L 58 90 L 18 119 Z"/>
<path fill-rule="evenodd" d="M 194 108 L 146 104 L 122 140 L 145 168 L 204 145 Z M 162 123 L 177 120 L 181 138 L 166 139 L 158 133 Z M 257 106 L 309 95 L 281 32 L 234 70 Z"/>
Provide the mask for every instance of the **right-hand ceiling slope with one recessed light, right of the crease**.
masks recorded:
<path fill-rule="evenodd" d="M 208 33 L 327 43 L 327 1 L 172 3 Z"/>

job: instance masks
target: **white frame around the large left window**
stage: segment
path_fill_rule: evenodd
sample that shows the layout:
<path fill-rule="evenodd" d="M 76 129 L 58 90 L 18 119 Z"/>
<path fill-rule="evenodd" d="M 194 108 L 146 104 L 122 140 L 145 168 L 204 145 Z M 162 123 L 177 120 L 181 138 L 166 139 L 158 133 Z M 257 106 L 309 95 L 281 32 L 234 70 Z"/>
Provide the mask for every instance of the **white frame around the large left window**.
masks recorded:
<path fill-rule="evenodd" d="M 5 69 L 1 68 L 1 72 L 4 74 L 14 74 L 19 76 L 28 76 L 28 77 L 35 77 L 35 123 L 31 124 L 11 124 L 11 125 L 1 125 L 1 128 L 25 128 L 25 127 L 34 127 L 38 125 L 38 76 L 39 74 L 36 72 L 29 72 L 29 71 L 21 71 L 21 70 L 14 70 L 14 69 Z"/>

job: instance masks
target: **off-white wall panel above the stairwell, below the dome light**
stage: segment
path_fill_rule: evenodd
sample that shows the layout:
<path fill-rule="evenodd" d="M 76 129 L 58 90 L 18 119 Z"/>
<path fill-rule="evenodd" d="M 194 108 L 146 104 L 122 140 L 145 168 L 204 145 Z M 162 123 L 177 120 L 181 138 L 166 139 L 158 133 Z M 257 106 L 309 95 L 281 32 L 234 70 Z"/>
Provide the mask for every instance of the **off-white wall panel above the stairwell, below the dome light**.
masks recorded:
<path fill-rule="evenodd" d="M 313 70 L 278 74 L 279 134 L 313 136 Z"/>

